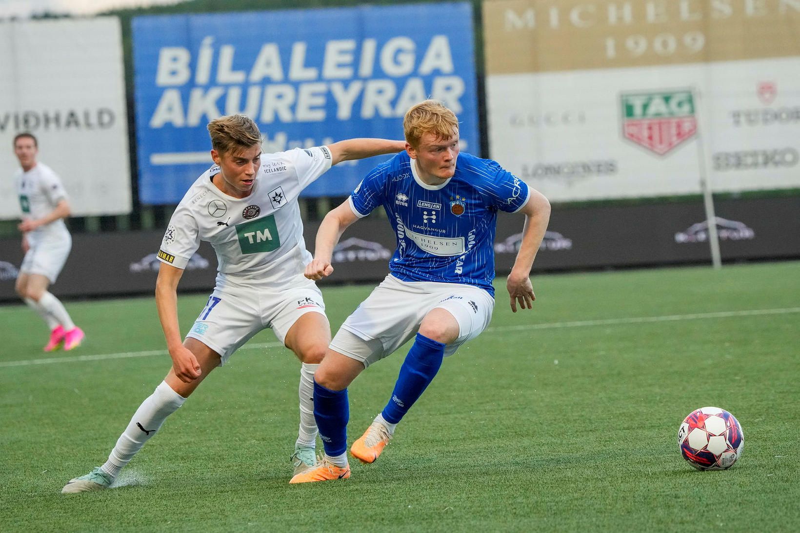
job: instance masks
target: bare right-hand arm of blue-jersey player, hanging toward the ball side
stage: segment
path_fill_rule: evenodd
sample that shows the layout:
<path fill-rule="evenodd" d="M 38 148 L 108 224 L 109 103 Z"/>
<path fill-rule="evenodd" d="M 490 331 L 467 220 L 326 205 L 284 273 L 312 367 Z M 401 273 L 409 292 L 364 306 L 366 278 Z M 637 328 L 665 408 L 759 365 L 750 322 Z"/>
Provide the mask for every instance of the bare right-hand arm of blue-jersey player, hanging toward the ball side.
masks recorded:
<path fill-rule="evenodd" d="M 522 242 L 506 281 L 511 311 L 514 313 L 517 312 L 517 304 L 520 309 L 532 309 L 536 299 L 534 286 L 530 283 L 530 269 L 534 266 L 536 252 L 545 236 L 547 222 L 550 221 L 550 202 L 538 190 L 530 189 L 530 198 L 520 211 L 525 214 Z"/>

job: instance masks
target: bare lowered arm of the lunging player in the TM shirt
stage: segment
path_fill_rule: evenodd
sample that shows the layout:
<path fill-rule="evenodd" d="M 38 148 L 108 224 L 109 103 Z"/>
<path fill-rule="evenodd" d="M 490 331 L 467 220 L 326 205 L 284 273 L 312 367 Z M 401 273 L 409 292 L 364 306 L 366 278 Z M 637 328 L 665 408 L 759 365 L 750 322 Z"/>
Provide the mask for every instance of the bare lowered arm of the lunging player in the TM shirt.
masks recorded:
<path fill-rule="evenodd" d="M 201 371 L 197 358 L 181 343 L 181 330 L 178 327 L 178 282 L 182 275 L 182 269 L 161 263 L 155 282 L 155 306 L 175 375 L 183 383 L 191 383 L 200 377 Z"/>

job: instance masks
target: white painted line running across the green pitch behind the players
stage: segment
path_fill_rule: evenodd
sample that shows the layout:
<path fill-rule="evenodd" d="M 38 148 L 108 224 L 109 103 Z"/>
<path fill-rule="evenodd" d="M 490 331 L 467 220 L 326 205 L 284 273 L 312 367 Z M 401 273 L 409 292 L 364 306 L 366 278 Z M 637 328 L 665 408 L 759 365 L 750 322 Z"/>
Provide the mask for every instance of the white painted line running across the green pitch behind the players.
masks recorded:
<path fill-rule="evenodd" d="M 693 313 L 690 315 L 642 316 L 642 317 L 629 317 L 626 319 L 575 320 L 573 322 L 522 324 L 519 326 L 490 327 L 486 329 L 486 332 L 548 330 L 560 327 L 616 326 L 620 324 L 675 322 L 678 320 L 705 320 L 705 319 L 726 319 L 730 317 L 742 317 L 742 316 L 787 315 L 790 313 L 800 313 L 800 307 L 784 307 L 779 309 L 752 309 L 748 311 L 718 311 L 714 313 Z M 239 348 L 239 350 L 255 350 L 258 348 L 273 348 L 280 346 L 283 346 L 282 343 L 246 344 L 245 346 Z M 126 359 L 130 357 L 147 357 L 150 355 L 166 355 L 166 354 L 167 354 L 166 350 L 150 350 L 150 351 L 125 351 L 118 354 L 77 355 L 74 357 L 28 359 L 22 361 L 0 362 L 0 368 L 27 367 L 30 365 L 44 365 L 50 363 L 78 363 L 82 361 L 102 361 L 106 359 Z"/>

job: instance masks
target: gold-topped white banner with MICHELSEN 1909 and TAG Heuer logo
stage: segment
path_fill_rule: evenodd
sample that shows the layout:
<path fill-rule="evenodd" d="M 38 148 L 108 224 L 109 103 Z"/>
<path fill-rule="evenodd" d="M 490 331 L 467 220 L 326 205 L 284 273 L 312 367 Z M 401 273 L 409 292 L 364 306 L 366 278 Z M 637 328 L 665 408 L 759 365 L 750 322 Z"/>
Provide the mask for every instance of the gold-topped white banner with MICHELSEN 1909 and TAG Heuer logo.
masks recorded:
<path fill-rule="evenodd" d="M 800 187 L 800 0 L 483 16 L 491 157 L 551 200 Z"/>

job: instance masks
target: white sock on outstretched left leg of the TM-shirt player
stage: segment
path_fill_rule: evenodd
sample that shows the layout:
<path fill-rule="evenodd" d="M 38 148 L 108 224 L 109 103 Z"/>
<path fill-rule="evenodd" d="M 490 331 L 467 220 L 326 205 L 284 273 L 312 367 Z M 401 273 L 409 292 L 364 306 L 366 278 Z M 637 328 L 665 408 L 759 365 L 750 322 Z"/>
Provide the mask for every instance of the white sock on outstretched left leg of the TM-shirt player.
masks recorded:
<path fill-rule="evenodd" d="M 116 478 L 122 467 L 130 463 L 136 452 L 155 435 L 166 417 L 178 411 L 178 407 L 185 401 L 186 398 L 173 391 L 166 381 L 162 381 L 134 413 L 134 418 L 130 419 L 125 432 L 119 436 L 117 445 L 102 465 L 102 470 Z"/>

